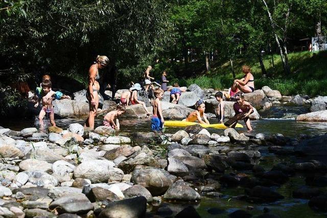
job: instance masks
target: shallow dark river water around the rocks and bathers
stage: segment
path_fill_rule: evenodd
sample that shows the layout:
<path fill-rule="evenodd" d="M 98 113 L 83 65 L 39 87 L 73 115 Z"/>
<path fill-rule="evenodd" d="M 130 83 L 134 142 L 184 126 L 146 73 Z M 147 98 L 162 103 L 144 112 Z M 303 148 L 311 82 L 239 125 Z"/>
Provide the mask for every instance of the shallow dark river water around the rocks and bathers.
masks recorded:
<path fill-rule="evenodd" d="M 34 119 L 25 119 L 25 120 L 1 120 L 0 126 L 5 128 L 10 128 L 12 130 L 21 130 L 26 127 L 34 126 Z M 217 123 L 217 120 L 210 120 L 211 123 Z M 83 124 L 84 120 L 81 119 L 57 119 L 56 124 L 61 128 L 66 128 L 69 124 L 80 123 Z M 150 118 L 146 119 L 121 119 L 121 133 L 131 133 L 131 132 L 149 132 L 150 131 Z M 244 123 L 241 122 L 244 126 Z M 324 134 L 327 132 L 327 124 L 319 122 L 296 122 L 294 118 L 290 119 L 280 119 L 280 118 L 263 118 L 260 120 L 251 121 L 252 128 L 256 133 L 264 133 L 265 135 L 272 135 L 276 133 L 281 133 L 284 136 L 296 137 L 299 134 Z M 96 126 L 102 125 L 102 120 L 96 121 Z M 175 133 L 177 130 L 183 128 L 166 128 L 166 133 Z M 239 131 L 246 131 L 246 128 L 238 129 Z M 224 130 L 221 129 L 208 129 L 210 133 L 223 134 Z M 259 161 L 259 165 L 263 166 L 266 171 L 269 171 L 272 166 L 280 162 L 305 162 L 309 159 L 298 158 L 295 156 L 276 156 L 270 154 L 267 150 L 260 150 L 262 153 L 262 158 Z M 317 160 L 327 163 L 326 159 L 315 158 Z M 231 171 L 230 171 L 231 172 Z M 236 173 L 235 171 L 233 171 Z M 228 173 L 228 172 L 225 172 Z M 252 176 L 252 172 L 237 172 L 237 173 L 246 173 L 249 176 Z M 290 177 L 290 180 L 280 187 L 273 187 L 279 193 L 281 193 L 285 199 L 281 201 L 276 201 L 273 203 L 265 204 L 255 204 L 248 203 L 245 201 L 236 200 L 234 196 L 244 195 L 244 188 L 224 188 L 222 187 L 220 192 L 223 194 L 222 198 L 202 198 L 198 204 L 193 204 L 196 210 L 199 212 L 201 217 L 228 217 L 230 212 L 233 212 L 238 209 L 247 210 L 248 206 L 252 206 L 252 210 L 247 210 L 254 217 L 259 214 L 263 214 L 264 208 L 270 210 L 272 213 L 277 214 L 281 217 L 326 217 L 327 213 L 312 210 L 308 206 L 308 200 L 294 199 L 292 198 L 292 191 L 298 187 L 306 186 L 305 176 L 297 174 L 293 177 Z M 327 187 L 321 188 L 324 192 L 327 192 Z M 181 208 L 184 208 L 186 204 L 174 204 L 172 202 L 166 202 L 160 205 L 168 206 L 173 211 L 179 211 Z M 180 208 L 180 209 L 178 209 Z M 164 212 L 160 214 L 157 213 L 156 207 L 148 210 L 147 216 L 149 217 L 167 217 L 172 216 L 173 214 L 165 214 Z M 209 210 L 210 209 L 210 210 Z M 211 211 L 211 213 L 208 212 Z M 212 212 L 214 211 L 214 212 Z M 215 213 L 215 214 L 213 214 Z"/>

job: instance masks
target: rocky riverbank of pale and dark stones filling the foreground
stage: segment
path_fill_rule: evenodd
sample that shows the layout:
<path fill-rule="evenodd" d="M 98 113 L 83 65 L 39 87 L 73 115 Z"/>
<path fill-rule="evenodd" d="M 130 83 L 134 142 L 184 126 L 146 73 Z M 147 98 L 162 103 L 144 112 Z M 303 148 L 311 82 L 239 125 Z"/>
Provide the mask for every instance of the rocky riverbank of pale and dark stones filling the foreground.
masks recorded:
<path fill-rule="evenodd" d="M 272 189 L 296 173 L 308 187 L 294 198 L 310 199 L 312 209 L 325 210 L 327 166 L 317 160 L 275 163 L 269 171 L 258 165 L 266 149 L 276 155 L 327 155 L 327 136 L 241 133 L 226 129 L 211 134 L 199 125 L 174 134 L 115 135 L 100 126 L 79 124 L 67 130 L 50 127 L 0 129 L 0 215 L 3 217 L 143 217 L 153 208 L 176 217 L 195 217 L 193 207 L 167 207 L 165 202 L 220 198 L 221 187 L 242 187 L 233 199 L 265 203 L 284 198 Z M 252 172 L 248 175 L 246 172 Z M 315 186 L 315 187 L 312 187 Z M 231 217 L 244 217 L 238 210 Z M 268 216 L 270 213 L 260 217 Z M 199 216 L 197 216 L 199 217 Z M 247 216 L 249 217 L 249 216 Z"/>

